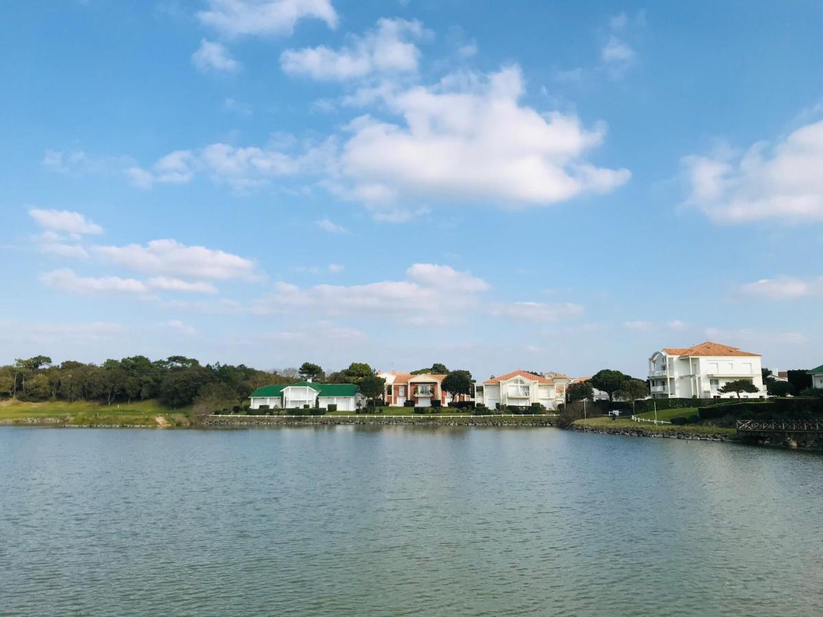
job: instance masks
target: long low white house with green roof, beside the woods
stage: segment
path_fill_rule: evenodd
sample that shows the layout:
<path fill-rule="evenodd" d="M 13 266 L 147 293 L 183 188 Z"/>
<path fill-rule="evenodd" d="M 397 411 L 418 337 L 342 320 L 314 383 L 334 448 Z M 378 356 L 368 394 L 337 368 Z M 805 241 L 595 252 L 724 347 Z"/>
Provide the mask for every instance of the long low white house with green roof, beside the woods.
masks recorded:
<path fill-rule="evenodd" d="M 337 405 L 338 411 L 356 411 L 365 402 L 354 383 L 314 383 L 311 381 L 258 387 L 252 392 L 252 409 L 267 405 L 269 409 L 302 409 L 303 406 Z"/>

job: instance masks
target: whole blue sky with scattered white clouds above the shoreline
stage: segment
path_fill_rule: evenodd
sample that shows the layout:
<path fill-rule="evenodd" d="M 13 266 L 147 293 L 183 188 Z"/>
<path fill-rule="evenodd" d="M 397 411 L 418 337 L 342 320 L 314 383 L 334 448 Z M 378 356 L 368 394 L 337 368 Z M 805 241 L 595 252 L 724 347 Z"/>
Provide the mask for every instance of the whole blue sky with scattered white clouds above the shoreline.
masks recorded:
<path fill-rule="evenodd" d="M 0 362 L 823 354 L 819 2 L 17 2 Z"/>

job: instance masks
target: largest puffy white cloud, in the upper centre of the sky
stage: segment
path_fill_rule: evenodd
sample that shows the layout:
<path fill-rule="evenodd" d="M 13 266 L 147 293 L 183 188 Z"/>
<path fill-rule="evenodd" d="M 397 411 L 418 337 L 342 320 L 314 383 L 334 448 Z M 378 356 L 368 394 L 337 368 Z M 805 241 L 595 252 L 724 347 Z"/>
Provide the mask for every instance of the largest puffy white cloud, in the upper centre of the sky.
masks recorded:
<path fill-rule="evenodd" d="M 405 122 L 351 123 L 340 160 L 351 194 L 371 202 L 427 194 L 546 205 L 608 193 L 630 178 L 628 169 L 584 160 L 603 141 L 602 123 L 587 130 L 573 115 L 540 114 L 519 104 L 522 95 L 518 67 L 386 95 Z"/>

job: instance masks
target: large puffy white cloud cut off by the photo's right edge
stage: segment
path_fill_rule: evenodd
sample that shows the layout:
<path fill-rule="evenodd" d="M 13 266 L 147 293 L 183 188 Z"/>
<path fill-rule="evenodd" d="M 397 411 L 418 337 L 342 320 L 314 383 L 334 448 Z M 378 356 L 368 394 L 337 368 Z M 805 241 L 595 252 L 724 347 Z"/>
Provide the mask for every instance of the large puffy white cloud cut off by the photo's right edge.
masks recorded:
<path fill-rule="evenodd" d="M 712 220 L 823 220 L 823 120 L 772 147 L 761 141 L 742 155 L 727 149 L 686 156 L 682 163 L 691 190 L 686 203 Z"/>

